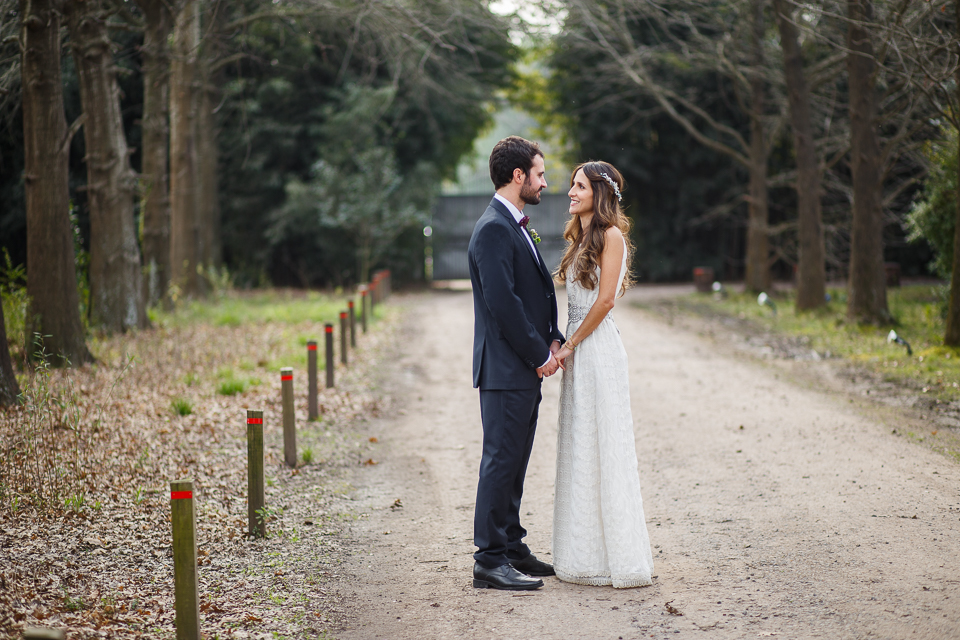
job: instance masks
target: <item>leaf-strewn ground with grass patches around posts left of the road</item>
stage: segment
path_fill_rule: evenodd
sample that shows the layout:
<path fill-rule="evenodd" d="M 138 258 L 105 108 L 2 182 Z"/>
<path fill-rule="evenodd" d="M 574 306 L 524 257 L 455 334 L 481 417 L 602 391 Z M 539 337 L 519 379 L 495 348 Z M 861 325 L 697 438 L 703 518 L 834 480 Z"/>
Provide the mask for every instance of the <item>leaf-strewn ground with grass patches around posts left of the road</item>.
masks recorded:
<path fill-rule="evenodd" d="M 345 474 L 374 461 L 374 376 L 395 317 L 377 310 L 307 421 L 306 342 L 339 333 L 342 298 L 228 294 L 154 313 L 152 329 L 90 341 L 97 363 L 21 376 L 0 413 L 0 636 L 172 638 L 169 482 L 195 486 L 208 638 L 322 636 L 343 549 Z M 339 358 L 339 338 L 337 340 Z M 283 464 L 279 369 L 294 368 L 300 464 Z M 246 537 L 246 410 L 264 411 L 268 537 Z"/>

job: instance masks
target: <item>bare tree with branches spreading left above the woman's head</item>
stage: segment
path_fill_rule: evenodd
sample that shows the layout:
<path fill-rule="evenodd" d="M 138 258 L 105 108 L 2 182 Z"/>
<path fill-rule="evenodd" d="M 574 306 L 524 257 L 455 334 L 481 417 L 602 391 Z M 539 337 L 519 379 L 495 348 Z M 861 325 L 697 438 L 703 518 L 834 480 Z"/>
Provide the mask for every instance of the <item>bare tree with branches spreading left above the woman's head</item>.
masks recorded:
<path fill-rule="evenodd" d="M 723 7 L 693 0 L 654 4 L 622 0 L 610 5 L 566 0 L 573 25 L 583 25 L 581 46 L 604 54 L 596 73 L 611 82 L 631 82 L 653 98 L 698 143 L 722 153 L 749 175 L 746 286 L 760 291 L 770 283 L 767 164 L 783 119 L 771 109 L 777 80 L 764 47 L 764 0 Z M 731 31 L 736 33 L 731 33 Z M 709 71 L 729 81 L 746 132 L 718 120 L 697 104 L 689 88 L 677 86 L 679 69 Z M 614 99 L 614 98 L 610 98 Z"/>

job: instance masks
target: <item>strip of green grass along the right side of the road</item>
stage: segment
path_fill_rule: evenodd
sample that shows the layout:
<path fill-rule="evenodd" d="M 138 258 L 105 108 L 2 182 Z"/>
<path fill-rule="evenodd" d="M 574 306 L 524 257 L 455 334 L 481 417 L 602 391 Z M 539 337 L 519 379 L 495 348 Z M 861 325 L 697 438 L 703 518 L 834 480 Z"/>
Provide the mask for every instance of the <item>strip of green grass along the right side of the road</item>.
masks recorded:
<path fill-rule="evenodd" d="M 846 318 L 846 292 L 829 291 L 826 308 L 797 313 L 794 292 L 778 292 L 773 298 L 777 314 L 757 304 L 753 294 L 730 292 L 724 299 L 694 294 L 681 300 L 693 311 L 713 311 L 747 320 L 768 331 L 809 339 L 818 353 L 841 356 L 878 371 L 889 380 L 909 380 L 923 393 L 944 400 L 960 399 L 960 349 L 943 346 L 942 292 L 934 285 L 911 285 L 887 290 L 892 327 L 850 322 Z M 904 347 L 889 343 L 890 329 L 910 343 L 913 356 Z"/>

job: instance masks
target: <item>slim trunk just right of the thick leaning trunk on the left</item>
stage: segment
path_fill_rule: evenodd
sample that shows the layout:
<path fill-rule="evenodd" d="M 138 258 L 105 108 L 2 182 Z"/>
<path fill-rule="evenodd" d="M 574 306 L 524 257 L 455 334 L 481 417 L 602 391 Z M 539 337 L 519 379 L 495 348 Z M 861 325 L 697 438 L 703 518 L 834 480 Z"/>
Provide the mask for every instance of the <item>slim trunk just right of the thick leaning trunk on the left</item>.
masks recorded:
<path fill-rule="evenodd" d="M 167 163 L 170 128 L 170 47 L 173 16 L 165 0 L 137 0 L 144 15 L 143 167 L 140 200 L 146 300 L 165 298 L 170 282 L 170 182 Z"/>

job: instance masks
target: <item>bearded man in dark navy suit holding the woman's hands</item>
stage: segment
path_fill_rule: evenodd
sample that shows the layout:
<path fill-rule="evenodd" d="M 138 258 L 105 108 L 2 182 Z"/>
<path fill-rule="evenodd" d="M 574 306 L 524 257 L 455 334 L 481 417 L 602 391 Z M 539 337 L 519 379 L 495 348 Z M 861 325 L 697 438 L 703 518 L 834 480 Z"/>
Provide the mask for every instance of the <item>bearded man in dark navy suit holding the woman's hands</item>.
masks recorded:
<path fill-rule="evenodd" d="M 527 231 L 524 205 L 547 187 L 535 142 L 504 138 L 490 154 L 497 190 L 467 253 L 473 284 L 473 386 L 480 389 L 483 456 L 473 521 L 473 586 L 538 589 L 553 575 L 523 543 L 523 478 L 537 428 L 540 384 L 559 364 L 553 278 Z"/>

